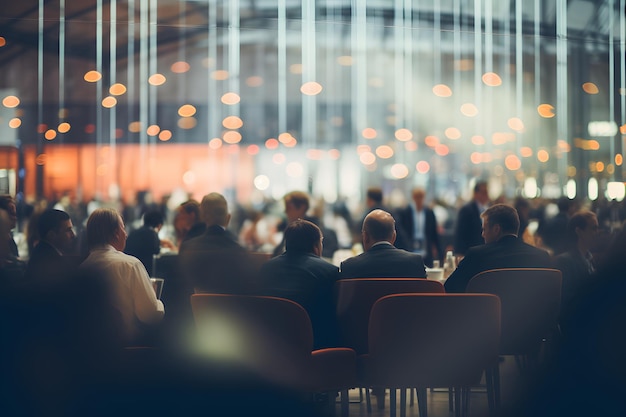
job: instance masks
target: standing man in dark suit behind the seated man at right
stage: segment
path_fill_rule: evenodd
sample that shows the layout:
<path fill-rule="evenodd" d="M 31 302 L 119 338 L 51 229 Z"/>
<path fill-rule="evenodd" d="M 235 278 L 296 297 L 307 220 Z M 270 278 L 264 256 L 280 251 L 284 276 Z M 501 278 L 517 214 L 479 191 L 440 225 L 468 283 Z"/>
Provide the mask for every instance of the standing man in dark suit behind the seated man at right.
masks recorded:
<path fill-rule="evenodd" d="M 454 252 L 465 255 L 472 246 L 482 245 L 482 221 L 480 215 L 489 204 L 487 182 L 478 181 L 474 185 L 472 201 L 459 210 L 454 231 Z M 515 232 L 517 233 L 517 231 Z"/>

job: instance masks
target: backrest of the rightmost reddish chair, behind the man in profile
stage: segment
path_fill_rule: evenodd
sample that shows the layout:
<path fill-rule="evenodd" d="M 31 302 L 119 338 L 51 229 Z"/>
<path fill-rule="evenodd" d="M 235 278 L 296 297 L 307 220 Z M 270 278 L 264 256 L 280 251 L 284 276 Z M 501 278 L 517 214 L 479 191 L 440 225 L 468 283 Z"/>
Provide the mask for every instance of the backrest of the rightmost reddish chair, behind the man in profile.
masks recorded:
<path fill-rule="evenodd" d="M 505 268 L 481 272 L 467 284 L 468 293 L 489 293 L 502 303 L 500 353 L 532 353 L 558 326 L 561 271 Z"/>

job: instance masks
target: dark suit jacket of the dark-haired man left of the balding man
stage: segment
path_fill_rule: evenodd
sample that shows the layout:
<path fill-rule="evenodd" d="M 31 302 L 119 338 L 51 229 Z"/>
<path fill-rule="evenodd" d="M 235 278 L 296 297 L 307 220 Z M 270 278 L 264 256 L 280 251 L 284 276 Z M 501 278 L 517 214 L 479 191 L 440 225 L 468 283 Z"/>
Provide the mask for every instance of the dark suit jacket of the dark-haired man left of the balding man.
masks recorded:
<path fill-rule="evenodd" d="M 337 346 L 337 320 L 333 288 L 336 266 L 312 253 L 285 252 L 261 266 L 261 295 L 287 298 L 309 314 L 315 348 Z"/>

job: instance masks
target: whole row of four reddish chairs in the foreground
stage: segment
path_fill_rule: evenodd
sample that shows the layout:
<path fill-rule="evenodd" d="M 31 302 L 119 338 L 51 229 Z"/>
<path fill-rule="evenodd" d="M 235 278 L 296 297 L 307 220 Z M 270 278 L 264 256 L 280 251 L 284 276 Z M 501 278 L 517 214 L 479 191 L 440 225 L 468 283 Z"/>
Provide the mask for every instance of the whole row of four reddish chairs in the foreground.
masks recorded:
<path fill-rule="evenodd" d="M 467 294 L 445 294 L 424 279 L 354 279 L 337 283 L 343 348 L 312 350 L 306 311 L 274 297 L 196 294 L 191 298 L 206 353 L 257 371 L 274 383 L 310 392 L 390 388 L 390 414 L 406 413 L 406 390 L 451 387 L 457 416 L 469 413 L 469 389 L 487 386 L 492 413 L 500 402 L 499 355 L 532 355 L 558 323 L 560 272 L 488 271 Z M 412 392 L 412 391 L 411 391 Z M 371 410 L 368 398 L 368 410 Z"/>

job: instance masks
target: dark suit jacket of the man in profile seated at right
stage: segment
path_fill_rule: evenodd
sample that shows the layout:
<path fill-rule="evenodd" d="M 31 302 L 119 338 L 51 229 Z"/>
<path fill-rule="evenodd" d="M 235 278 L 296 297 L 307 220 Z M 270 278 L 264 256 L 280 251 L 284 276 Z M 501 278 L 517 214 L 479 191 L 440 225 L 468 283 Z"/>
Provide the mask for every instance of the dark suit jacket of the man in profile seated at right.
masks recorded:
<path fill-rule="evenodd" d="M 552 268 L 552 261 L 545 250 L 528 245 L 514 235 L 503 236 L 497 242 L 468 250 L 446 280 L 446 292 L 465 292 L 474 275 L 498 268 Z"/>

